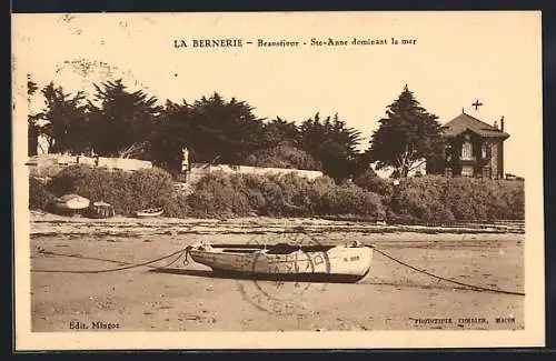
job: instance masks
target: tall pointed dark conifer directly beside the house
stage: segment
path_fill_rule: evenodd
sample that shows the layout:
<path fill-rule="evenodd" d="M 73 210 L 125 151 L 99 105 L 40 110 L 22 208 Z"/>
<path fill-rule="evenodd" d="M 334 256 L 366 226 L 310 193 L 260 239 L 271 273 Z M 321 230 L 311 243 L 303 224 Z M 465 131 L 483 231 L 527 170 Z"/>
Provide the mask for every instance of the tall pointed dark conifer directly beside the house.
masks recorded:
<path fill-rule="evenodd" d="M 405 86 L 373 133 L 369 158 L 377 161 L 377 169 L 394 167 L 399 177 L 407 177 L 424 160 L 443 151 L 443 127 L 437 119 L 420 107 Z"/>

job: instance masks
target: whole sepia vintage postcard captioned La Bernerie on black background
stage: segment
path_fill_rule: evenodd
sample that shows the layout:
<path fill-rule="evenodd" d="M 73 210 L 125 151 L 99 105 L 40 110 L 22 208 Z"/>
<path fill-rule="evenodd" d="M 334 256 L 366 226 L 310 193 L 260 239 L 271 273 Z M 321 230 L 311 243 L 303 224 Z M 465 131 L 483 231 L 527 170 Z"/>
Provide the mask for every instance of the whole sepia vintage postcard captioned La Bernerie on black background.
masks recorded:
<path fill-rule="evenodd" d="M 13 14 L 17 350 L 544 345 L 540 20 Z"/>

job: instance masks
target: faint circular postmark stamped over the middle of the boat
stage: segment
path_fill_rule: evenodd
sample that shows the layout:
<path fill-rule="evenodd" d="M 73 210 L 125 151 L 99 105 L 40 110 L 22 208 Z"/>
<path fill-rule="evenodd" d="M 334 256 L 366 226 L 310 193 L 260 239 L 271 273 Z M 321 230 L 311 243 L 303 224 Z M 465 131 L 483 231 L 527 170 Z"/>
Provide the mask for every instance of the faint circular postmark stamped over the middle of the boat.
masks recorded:
<path fill-rule="evenodd" d="M 330 273 L 330 261 L 321 244 L 302 229 L 260 234 L 247 243 L 259 250 L 246 258 L 251 279 L 238 281 L 238 289 L 256 308 L 297 312 L 326 290 L 322 281 Z"/>

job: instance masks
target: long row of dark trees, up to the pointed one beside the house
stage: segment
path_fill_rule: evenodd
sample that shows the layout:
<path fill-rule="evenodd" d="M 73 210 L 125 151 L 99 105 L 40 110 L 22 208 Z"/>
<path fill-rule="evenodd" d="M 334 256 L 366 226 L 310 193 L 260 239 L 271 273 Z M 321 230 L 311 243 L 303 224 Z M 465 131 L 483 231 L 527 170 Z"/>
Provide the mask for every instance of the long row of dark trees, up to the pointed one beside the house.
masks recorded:
<path fill-rule="evenodd" d="M 341 182 L 373 161 L 405 177 L 419 158 L 441 148 L 436 116 L 420 108 L 407 87 L 387 108 L 366 152 L 358 151 L 360 132 L 338 114 L 317 112 L 299 123 L 259 119 L 247 102 L 226 101 L 216 92 L 192 103 L 167 100 L 159 106 L 156 97 L 131 91 L 121 80 L 95 84 L 92 98 L 86 99 L 52 82 L 39 88 L 29 78 L 29 96 L 37 91 L 44 107 L 29 116 L 30 156 L 42 134 L 49 152 L 141 158 L 173 173 L 187 148 L 191 162 L 322 170 Z"/>

